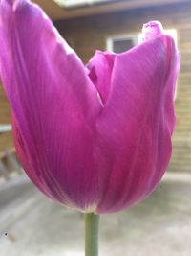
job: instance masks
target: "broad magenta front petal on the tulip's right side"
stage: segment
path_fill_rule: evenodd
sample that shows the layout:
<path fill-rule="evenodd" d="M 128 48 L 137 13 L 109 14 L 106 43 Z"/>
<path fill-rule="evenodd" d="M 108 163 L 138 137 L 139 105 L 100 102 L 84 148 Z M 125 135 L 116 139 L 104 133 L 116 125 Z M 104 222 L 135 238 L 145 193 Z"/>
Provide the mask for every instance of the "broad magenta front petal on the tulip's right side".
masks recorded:
<path fill-rule="evenodd" d="M 146 198 L 170 159 L 180 57 L 171 37 L 148 38 L 116 56 L 110 97 L 96 124 L 100 214 Z"/>

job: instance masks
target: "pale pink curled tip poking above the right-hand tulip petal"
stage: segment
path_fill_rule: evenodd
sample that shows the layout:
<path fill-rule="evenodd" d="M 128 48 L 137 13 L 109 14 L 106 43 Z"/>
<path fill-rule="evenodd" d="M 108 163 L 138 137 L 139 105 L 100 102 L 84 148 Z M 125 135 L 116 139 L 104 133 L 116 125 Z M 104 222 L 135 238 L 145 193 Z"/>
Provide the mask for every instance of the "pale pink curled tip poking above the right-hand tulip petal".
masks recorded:
<path fill-rule="evenodd" d="M 149 21 L 148 23 L 143 25 L 142 28 L 142 37 L 143 40 L 152 40 L 157 35 L 162 35 L 163 27 L 159 21 Z"/>

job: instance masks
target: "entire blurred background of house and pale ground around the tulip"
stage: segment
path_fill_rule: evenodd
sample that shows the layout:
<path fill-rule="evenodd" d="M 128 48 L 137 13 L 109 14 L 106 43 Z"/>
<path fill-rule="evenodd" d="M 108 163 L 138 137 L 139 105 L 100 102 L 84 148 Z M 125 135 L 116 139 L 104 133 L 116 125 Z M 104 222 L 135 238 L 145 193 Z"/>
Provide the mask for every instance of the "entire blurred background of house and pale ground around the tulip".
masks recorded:
<path fill-rule="evenodd" d="M 52 18 L 84 63 L 96 49 L 120 53 L 137 45 L 142 24 L 149 20 L 159 20 L 166 34 L 177 41 L 181 53 L 175 99 L 177 127 L 167 175 L 151 198 L 127 212 L 102 218 L 100 252 L 111 256 L 191 255 L 191 1 L 33 2 Z M 0 250 L 1 256 L 83 255 L 82 215 L 44 198 L 33 188 L 16 159 L 11 109 L 2 86 Z"/>

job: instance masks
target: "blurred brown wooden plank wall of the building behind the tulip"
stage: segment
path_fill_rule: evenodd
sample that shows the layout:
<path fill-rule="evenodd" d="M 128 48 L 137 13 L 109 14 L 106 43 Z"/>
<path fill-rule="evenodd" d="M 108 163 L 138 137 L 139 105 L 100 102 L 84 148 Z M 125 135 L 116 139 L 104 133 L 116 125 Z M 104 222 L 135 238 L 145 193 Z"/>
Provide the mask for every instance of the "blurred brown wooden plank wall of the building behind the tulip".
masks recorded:
<path fill-rule="evenodd" d="M 145 8 L 58 21 L 60 33 L 67 39 L 84 63 L 96 49 L 106 49 L 111 35 L 137 34 L 142 24 L 153 19 L 165 29 L 176 29 L 181 51 L 181 70 L 177 90 L 177 128 L 173 138 L 173 157 L 169 170 L 191 172 L 191 3 Z M 0 123 L 10 122 L 10 109 L 0 88 Z M 11 135 L 0 135 L 0 151 L 11 146 Z"/>

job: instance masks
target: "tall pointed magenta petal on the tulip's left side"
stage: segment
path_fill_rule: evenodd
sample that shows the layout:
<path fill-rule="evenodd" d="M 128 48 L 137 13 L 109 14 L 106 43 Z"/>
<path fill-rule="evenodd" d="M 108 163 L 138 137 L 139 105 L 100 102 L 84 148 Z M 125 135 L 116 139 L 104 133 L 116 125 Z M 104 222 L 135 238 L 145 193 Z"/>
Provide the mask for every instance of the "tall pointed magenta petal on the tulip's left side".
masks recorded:
<path fill-rule="evenodd" d="M 97 201 L 96 87 L 52 22 L 27 0 L 0 4 L 0 73 L 16 149 L 49 197 L 82 210 Z"/>

